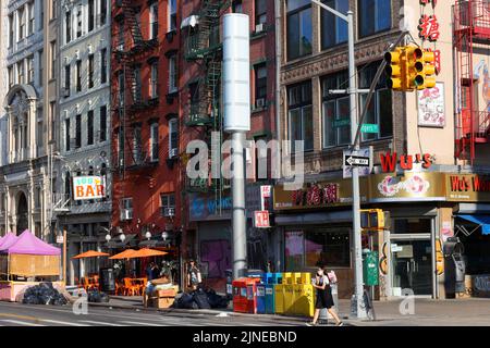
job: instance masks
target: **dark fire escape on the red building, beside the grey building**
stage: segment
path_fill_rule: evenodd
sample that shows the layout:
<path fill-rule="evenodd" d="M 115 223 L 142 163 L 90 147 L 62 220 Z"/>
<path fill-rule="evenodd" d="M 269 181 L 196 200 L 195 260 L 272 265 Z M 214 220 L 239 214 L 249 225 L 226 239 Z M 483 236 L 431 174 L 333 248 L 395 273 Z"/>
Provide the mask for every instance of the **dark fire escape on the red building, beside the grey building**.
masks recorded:
<path fill-rule="evenodd" d="M 118 80 L 118 92 L 112 94 L 114 115 L 120 121 L 120 146 L 114 167 L 125 178 L 125 172 L 142 170 L 151 165 L 150 156 L 143 150 L 140 130 L 135 126 L 138 112 L 158 104 L 158 98 L 144 100 L 142 95 L 142 74 L 139 62 L 144 61 L 158 47 L 158 39 L 145 39 L 138 20 L 139 7 L 133 0 L 118 0 L 115 27 L 119 35 L 113 54 L 120 70 L 113 72 Z M 121 32 L 122 30 L 122 32 Z M 128 35 L 126 35 L 126 33 Z M 128 151 L 126 151 L 128 150 Z M 126 154 L 128 152 L 128 156 Z M 127 161 L 130 159 L 130 161 Z"/>

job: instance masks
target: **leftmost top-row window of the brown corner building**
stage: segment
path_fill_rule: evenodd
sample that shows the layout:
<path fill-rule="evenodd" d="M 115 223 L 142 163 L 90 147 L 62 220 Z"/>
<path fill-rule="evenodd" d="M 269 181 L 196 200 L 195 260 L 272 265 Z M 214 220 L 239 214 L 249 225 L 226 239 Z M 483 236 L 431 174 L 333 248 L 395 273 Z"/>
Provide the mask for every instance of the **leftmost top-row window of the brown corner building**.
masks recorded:
<path fill-rule="evenodd" d="M 287 0 L 287 60 L 311 53 L 310 0 Z"/>

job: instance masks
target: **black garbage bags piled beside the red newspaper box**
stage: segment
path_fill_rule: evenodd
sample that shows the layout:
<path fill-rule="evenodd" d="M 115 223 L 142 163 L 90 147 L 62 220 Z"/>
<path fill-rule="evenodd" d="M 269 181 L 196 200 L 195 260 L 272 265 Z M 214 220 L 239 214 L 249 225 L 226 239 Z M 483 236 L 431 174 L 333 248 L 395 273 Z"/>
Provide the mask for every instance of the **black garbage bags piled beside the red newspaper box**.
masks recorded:
<path fill-rule="evenodd" d="M 220 296 L 211 288 L 183 293 L 181 297 L 175 298 L 173 308 L 177 309 L 223 309 L 228 308 L 229 299 Z"/>

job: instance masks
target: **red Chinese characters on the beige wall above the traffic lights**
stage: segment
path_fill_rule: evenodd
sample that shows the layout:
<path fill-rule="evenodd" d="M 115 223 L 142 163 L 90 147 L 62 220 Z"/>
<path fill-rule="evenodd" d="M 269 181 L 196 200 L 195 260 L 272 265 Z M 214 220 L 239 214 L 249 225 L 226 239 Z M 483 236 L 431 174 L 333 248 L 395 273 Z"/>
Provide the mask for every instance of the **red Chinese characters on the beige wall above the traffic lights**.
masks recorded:
<path fill-rule="evenodd" d="M 440 32 L 440 23 L 436 15 L 436 7 L 438 4 L 437 0 L 419 0 L 422 5 L 422 14 L 420 20 L 418 21 L 418 36 L 422 41 L 437 42 L 439 37 L 441 36 Z M 426 14 L 424 13 L 429 5 L 432 7 L 433 13 Z M 436 57 L 436 74 L 441 73 L 441 51 L 436 49 L 427 49 L 428 51 L 432 51 Z"/>

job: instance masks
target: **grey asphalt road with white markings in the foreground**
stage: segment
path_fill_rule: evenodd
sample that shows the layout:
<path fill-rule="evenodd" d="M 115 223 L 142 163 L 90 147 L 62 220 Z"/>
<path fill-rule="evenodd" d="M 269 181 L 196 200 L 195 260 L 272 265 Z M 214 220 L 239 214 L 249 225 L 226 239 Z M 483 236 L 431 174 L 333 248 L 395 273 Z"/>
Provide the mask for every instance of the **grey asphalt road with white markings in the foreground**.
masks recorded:
<path fill-rule="evenodd" d="M 0 302 L 0 326 L 304 326 L 297 321 L 234 318 L 209 314 L 157 313 L 88 308 L 75 314 L 72 306 Z"/>

